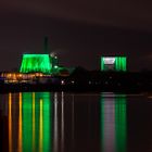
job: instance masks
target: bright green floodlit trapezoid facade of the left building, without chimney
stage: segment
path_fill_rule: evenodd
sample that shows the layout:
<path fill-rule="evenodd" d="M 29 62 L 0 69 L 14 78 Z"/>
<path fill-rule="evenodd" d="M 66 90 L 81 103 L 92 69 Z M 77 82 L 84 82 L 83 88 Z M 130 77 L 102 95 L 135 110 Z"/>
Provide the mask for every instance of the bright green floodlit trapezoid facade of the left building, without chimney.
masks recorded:
<path fill-rule="evenodd" d="M 52 64 L 49 54 L 23 54 L 21 73 L 51 73 Z"/>

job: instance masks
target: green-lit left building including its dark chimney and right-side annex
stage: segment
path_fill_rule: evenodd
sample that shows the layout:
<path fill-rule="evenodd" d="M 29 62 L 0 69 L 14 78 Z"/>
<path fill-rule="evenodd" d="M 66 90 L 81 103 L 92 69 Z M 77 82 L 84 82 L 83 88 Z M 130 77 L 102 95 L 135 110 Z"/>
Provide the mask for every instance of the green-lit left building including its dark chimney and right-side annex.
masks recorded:
<path fill-rule="evenodd" d="M 21 73 L 56 74 L 59 71 L 58 56 L 49 53 L 49 39 L 43 41 L 43 54 L 23 54 Z"/>

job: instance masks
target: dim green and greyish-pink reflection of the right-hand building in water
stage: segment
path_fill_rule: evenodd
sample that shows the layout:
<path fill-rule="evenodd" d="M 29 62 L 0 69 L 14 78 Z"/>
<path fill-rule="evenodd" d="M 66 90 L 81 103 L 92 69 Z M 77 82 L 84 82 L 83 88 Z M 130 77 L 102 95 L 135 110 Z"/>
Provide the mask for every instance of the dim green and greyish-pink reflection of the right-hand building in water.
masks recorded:
<path fill-rule="evenodd" d="M 126 151 L 125 96 L 101 96 L 101 141 L 103 152 Z"/>

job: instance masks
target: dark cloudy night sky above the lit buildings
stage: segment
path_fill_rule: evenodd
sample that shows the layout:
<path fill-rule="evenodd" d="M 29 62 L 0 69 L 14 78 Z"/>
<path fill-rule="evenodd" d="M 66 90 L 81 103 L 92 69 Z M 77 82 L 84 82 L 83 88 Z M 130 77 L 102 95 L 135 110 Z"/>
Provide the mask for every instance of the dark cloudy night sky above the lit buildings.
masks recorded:
<path fill-rule="evenodd" d="M 152 69 L 152 1 L 1 0 L 0 71 L 23 53 L 43 53 L 43 37 L 65 66 L 98 69 L 100 55 L 127 55 L 128 69 Z"/>

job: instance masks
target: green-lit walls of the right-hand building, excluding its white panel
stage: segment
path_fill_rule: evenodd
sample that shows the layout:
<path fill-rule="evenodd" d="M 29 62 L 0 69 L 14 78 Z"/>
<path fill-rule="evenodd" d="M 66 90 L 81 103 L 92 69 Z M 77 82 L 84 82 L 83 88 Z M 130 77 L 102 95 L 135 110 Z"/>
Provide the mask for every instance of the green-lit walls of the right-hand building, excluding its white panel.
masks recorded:
<path fill-rule="evenodd" d="M 110 56 L 111 58 L 111 56 Z M 127 71 L 127 60 L 126 56 L 114 56 L 114 71 Z M 104 56 L 101 56 L 101 71 L 109 71 L 109 65 L 104 63 Z"/>

